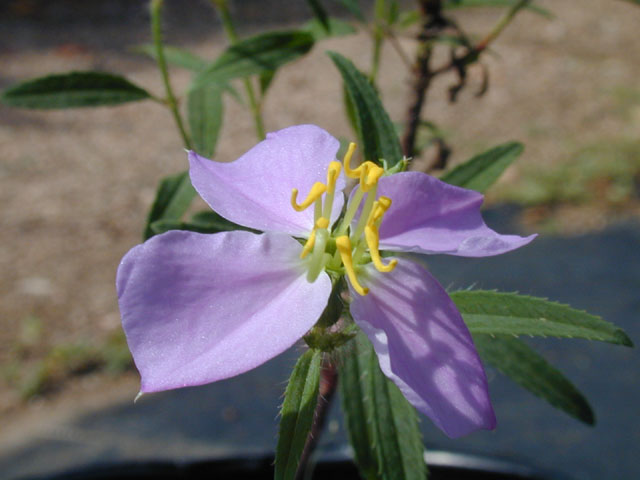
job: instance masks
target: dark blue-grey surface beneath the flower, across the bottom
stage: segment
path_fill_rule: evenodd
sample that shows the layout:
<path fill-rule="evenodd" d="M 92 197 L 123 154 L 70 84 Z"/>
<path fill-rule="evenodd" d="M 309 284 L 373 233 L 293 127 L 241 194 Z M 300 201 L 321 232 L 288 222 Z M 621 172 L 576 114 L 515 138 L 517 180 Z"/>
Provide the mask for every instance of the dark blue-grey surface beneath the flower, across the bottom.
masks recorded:
<path fill-rule="evenodd" d="M 490 226 L 507 233 L 513 231 L 509 227 L 513 213 L 499 209 L 485 217 Z M 637 344 L 638 245 L 640 226 L 624 224 L 580 237 L 538 238 L 525 248 L 492 258 L 433 256 L 428 261 L 445 287 L 475 283 L 476 288 L 550 297 L 615 322 Z M 427 449 L 505 458 L 584 480 L 637 477 L 638 351 L 581 340 L 528 343 L 586 394 L 596 412 L 595 427 L 580 424 L 489 371 L 497 430 L 450 440 L 425 418 L 421 425 Z M 5 478 L 18 478 L 96 462 L 266 456 L 275 445 L 278 406 L 298 353 L 293 349 L 226 381 L 149 395 L 135 405 L 78 418 L 4 453 L 0 471 Z M 325 455 L 342 451 L 346 442 L 338 403 L 321 439 Z"/>

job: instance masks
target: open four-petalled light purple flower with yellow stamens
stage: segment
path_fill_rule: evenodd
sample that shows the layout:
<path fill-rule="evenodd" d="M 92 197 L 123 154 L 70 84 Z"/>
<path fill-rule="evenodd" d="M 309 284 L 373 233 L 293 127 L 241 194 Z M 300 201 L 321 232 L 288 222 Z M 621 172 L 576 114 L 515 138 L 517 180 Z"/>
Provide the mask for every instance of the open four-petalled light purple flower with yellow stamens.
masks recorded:
<path fill-rule="evenodd" d="M 344 166 L 338 147 L 300 125 L 232 163 L 189 152 L 200 196 L 266 233 L 171 231 L 125 255 L 117 289 L 141 391 L 215 382 L 275 357 L 313 327 L 345 275 L 353 319 L 409 402 L 451 437 L 494 428 L 485 373 L 455 305 L 411 255 L 382 258 L 379 249 L 484 257 L 533 236 L 488 228 L 479 193 L 419 172 L 385 175 L 372 162 L 351 169 L 355 145 Z M 346 209 L 341 170 L 359 180 Z"/>

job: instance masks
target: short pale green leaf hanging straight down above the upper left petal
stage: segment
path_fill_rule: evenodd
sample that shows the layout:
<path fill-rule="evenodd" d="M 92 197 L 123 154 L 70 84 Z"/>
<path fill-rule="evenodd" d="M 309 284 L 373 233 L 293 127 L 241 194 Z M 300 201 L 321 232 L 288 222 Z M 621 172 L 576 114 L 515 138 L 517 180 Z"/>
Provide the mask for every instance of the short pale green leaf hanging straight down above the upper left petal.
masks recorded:
<path fill-rule="evenodd" d="M 222 127 L 224 105 L 223 88 L 207 85 L 190 90 L 187 97 L 187 115 L 191 139 L 196 152 L 212 157 Z"/>

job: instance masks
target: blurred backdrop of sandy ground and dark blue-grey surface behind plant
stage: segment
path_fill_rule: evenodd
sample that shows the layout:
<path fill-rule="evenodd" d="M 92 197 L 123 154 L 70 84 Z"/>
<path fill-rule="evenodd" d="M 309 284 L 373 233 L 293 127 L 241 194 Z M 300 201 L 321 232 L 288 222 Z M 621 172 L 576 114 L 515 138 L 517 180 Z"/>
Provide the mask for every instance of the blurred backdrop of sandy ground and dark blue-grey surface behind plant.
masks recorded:
<path fill-rule="evenodd" d="M 525 153 L 488 195 L 487 215 L 503 231 L 543 235 L 504 259 L 471 264 L 437 259 L 433 269 L 446 286 L 475 283 L 571 302 L 619 324 L 637 343 L 640 8 L 612 0 L 537 3 L 554 18 L 524 12 L 507 28 L 485 56 L 490 85 L 483 97 L 474 96 L 474 85 L 482 82 L 479 70 L 470 70 L 470 88 L 455 104 L 447 100 L 453 76 L 441 77 L 429 91 L 424 115 L 453 147 L 452 165 L 502 142 L 525 144 Z M 242 0 L 231 6 L 241 35 L 311 18 L 302 1 Z M 349 18 L 339 9 L 335 13 Z M 455 17 L 482 34 L 500 14 L 475 8 L 456 11 Z M 211 60 L 228 45 L 209 2 L 168 0 L 164 19 L 168 44 Z M 154 62 L 132 49 L 150 41 L 148 22 L 142 0 L 0 2 L 0 89 L 51 72 L 105 70 L 162 96 Z M 400 42 L 412 52 L 410 35 Z M 370 62 L 366 33 L 316 44 L 309 55 L 278 72 L 265 104 L 267 131 L 315 123 L 337 137 L 352 137 L 342 109 L 341 79 L 326 50 L 339 51 L 363 68 Z M 188 72 L 172 70 L 176 91 L 184 91 L 189 80 Z M 404 65 L 386 48 L 379 86 L 393 120 L 404 117 L 408 82 Z M 233 101 L 225 107 L 215 157 L 233 160 L 256 138 L 246 110 Z M 104 442 L 111 442 L 111 457 L 100 450 L 107 443 L 100 443 L 98 435 L 93 437 L 97 450 L 76 450 L 75 460 L 60 468 L 124 458 L 127 449 L 118 453 L 113 445 L 124 442 L 126 434 L 107 433 L 104 418 L 111 417 L 101 417 L 104 412 L 124 415 L 119 418 L 123 425 L 129 422 L 130 433 L 148 428 L 147 441 L 169 431 L 181 439 L 172 441 L 173 447 L 157 437 L 153 444 L 132 441 L 145 458 L 163 456 L 163 448 L 180 458 L 205 456 L 214 451 L 207 429 L 216 432 L 216 452 L 268 449 L 273 443 L 276 407 L 293 354 L 219 390 L 159 395 L 146 404 L 143 399 L 138 410 L 131 405 L 138 376 L 120 327 L 115 271 L 122 255 L 141 241 L 158 181 L 185 168 L 170 115 L 151 102 L 50 112 L 0 105 L 0 465 L 13 468 L 7 470 L 13 475 L 56 466 L 53 457 L 42 456 L 51 446 L 46 441 L 66 442 L 71 449 L 86 446 L 78 432 L 102 432 Z M 556 457 L 564 457 L 560 470 L 582 472 L 576 478 L 636 478 L 637 353 L 586 342 L 542 345 L 548 358 L 573 374 L 604 426 L 583 427 L 528 394 L 509 390 L 492 374 L 498 418 L 504 420 L 498 433 L 476 434 L 460 447 L 426 426 L 427 445 L 527 459 L 545 467 L 557 467 Z M 242 397 L 246 388 L 263 402 L 246 405 L 243 414 L 244 404 L 236 405 L 238 400 L 221 392 Z M 504 396 L 496 393 L 502 391 Z M 616 401 L 623 403 L 612 405 Z M 180 402 L 202 405 L 189 418 L 182 413 L 178 423 L 185 430 L 170 413 L 171 405 Z M 151 422 L 146 427 L 135 423 L 144 412 Z M 212 423 L 199 420 L 208 415 Z M 74 424 L 78 419 L 81 423 Z M 344 439 L 339 416 L 332 421 L 335 438 L 329 435 L 326 441 L 339 444 Z M 262 437 L 251 429 L 262 429 Z M 189 432 L 195 430 L 197 441 L 191 442 Z M 550 453 L 554 441 L 565 450 Z M 34 442 L 45 446 L 29 450 Z M 598 461 L 604 445 L 610 445 L 617 463 Z M 49 455 L 55 451 L 49 448 Z M 137 458 L 135 449 L 127 454 Z M 27 467 L 28 458 L 42 463 Z M 592 463 L 587 468 L 584 461 Z"/>

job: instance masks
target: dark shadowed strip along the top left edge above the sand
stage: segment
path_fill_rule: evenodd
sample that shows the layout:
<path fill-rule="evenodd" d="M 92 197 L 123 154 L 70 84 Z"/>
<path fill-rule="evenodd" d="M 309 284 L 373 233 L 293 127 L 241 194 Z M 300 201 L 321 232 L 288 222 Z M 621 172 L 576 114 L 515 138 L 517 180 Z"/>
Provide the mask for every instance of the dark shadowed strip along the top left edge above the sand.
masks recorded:
<path fill-rule="evenodd" d="M 330 2 L 331 3 L 331 2 Z M 337 2 L 334 2 L 337 3 Z M 312 17 L 307 2 L 230 1 L 241 33 L 300 24 Z M 366 6 L 367 2 L 363 2 Z M 149 41 L 149 0 L 9 0 L 0 2 L 0 52 L 35 48 L 126 50 Z M 333 14 L 345 11 L 333 5 Z M 168 43 L 194 43 L 222 26 L 210 1 L 165 0 Z"/>

